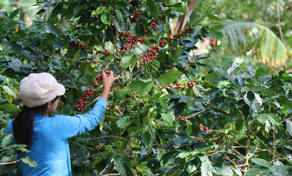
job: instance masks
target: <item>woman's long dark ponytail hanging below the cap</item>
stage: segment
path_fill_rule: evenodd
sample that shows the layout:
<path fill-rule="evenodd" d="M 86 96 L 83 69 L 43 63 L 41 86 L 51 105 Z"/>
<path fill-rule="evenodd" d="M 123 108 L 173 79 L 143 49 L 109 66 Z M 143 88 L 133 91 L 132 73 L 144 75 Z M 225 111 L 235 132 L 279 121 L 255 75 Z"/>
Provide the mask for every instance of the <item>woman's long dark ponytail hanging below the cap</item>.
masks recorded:
<path fill-rule="evenodd" d="M 58 96 L 51 102 L 55 102 Z M 15 117 L 13 125 L 13 137 L 16 144 L 30 145 L 35 128 L 35 113 L 45 114 L 47 113 L 47 103 L 37 107 L 29 108 L 23 106 L 21 112 Z M 28 146 L 26 147 L 28 149 Z M 19 152 L 23 154 L 23 152 Z"/>

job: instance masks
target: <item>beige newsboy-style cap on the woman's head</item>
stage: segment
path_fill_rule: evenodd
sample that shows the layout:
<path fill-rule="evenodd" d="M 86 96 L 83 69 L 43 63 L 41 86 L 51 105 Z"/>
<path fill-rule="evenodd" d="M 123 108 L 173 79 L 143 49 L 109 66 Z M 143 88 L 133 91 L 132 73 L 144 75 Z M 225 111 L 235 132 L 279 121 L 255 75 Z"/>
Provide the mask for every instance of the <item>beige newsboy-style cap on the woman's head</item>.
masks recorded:
<path fill-rule="evenodd" d="M 32 73 L 19 83 L 23 104 L 29 108 L 44 105 L 65 94 L 65 87 L 50 73 Z"/>

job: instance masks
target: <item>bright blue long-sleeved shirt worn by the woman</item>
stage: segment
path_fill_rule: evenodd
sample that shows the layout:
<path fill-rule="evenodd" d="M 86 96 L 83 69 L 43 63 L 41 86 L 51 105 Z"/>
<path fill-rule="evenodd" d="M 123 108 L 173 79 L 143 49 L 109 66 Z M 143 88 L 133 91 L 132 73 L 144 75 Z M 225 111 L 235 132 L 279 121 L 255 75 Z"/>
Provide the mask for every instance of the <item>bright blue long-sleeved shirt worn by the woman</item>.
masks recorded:
<path fill-rule="evenodd" d="M 47 117 L 35 115 L 35 129 L 31 152 L 18 155 L 22 159 L 29 157 L 37 162 L 30 167 L 22 161 L 18 168 L 23 176 L 71 176 L 71 163 L 68 139 L 94 129 L 101 121 L 107 106 L 107 100 L 99 98 L 89 114 L 55 115 Z M 13 120 L 8 123 L 7 134 L 13 133 Z M 12 140 L 14 144 L 14 140 Z"/>

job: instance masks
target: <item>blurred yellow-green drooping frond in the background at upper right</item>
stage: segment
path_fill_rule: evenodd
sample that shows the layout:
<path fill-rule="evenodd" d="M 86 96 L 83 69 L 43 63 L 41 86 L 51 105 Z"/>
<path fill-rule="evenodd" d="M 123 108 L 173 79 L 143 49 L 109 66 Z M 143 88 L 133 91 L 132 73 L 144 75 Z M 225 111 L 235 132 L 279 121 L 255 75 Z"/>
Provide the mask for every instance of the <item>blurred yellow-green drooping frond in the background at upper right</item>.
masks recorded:
<path fill-rule="evenodd" d="M 232 50 L 237 54 L 252 51 L 259 62 L 283 65 L 288 56 L 288 49 L 281 40 L 265 26 L 251 22 L 225 22 L 221 30 L 228 36 Z"/>

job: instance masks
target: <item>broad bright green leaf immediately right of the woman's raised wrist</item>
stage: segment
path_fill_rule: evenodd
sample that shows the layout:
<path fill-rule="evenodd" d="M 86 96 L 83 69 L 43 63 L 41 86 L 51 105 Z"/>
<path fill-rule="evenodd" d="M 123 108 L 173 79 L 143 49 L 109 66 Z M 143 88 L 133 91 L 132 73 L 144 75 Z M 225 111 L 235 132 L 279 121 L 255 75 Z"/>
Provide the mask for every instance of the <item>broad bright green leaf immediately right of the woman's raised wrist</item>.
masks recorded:
<path fill-rule="evenodd" d="M 126 86 L 129 89 L 134 90 L 140 95 L 147 94 L 154 86 L 154 80 L 131 80 L 131 83 Z"/>

